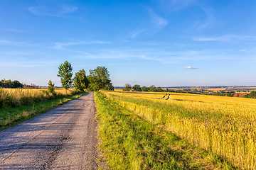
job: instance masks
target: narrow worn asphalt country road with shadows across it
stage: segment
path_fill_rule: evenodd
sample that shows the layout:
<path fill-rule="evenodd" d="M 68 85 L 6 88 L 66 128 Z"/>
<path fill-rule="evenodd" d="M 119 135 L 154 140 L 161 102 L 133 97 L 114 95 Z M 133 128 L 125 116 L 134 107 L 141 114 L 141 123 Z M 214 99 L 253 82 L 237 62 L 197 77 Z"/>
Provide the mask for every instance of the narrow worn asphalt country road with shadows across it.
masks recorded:
<path fill-rule="evenodd" d="M 0 131 L 0 169 L 97 169 L 93 92 Z"/>

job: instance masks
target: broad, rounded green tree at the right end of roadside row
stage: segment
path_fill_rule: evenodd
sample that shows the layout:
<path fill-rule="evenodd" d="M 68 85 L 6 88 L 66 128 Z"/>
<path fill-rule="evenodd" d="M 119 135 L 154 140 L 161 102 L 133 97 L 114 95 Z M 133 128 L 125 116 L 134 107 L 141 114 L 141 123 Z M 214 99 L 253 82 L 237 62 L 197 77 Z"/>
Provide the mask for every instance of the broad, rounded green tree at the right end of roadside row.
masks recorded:
<path fill-rule="evenodd" d="M 96 69 L 90 69 L 89 89 L 93 91 L 102 90 L 114 90 L 114 86 L 110 80 L 110 72 L 107 71 L 106 67 L 97 67 Z"/>

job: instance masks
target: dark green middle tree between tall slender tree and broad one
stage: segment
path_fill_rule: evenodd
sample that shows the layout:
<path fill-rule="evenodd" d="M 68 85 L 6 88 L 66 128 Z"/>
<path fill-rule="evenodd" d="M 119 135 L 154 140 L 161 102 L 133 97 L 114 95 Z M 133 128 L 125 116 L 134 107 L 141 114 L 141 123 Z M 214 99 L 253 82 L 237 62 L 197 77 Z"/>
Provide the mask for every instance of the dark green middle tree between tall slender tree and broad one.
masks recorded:
<path fill-rule="evenodd" d="M 74 78 L 74 87 L 76 91 L 84 91 L 89 86 L 89 80 L 85 75 L 85 70 L 79 70 L 79 72 L 75 73 Z"/>

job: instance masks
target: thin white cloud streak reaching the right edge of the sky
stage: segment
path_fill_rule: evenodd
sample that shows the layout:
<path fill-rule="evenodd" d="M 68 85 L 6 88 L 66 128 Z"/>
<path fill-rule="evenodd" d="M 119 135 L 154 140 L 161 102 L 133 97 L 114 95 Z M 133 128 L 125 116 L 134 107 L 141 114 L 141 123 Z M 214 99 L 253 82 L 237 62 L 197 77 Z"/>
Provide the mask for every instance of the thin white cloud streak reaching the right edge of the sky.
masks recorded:
<path fill-rule="evenodd" d="M 256 36 L 248 35 L 222 35 L 218 37 L 193 38 L 195 41 L 231 41 L 231 40 L 256 40 Z"/>

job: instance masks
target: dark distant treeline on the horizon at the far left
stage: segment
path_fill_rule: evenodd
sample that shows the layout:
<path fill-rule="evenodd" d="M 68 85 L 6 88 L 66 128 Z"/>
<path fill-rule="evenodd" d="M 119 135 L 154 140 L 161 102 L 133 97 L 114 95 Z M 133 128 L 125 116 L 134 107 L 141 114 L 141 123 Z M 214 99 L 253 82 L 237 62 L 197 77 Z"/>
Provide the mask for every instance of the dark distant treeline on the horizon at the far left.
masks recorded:
<path fill-rule="evenodd" d="M 18 80 L 11 81 L 11 79 L 9 80 L 2 79 L 0 81 L 0 87 L 11 88 L 11 89 L 40 89 L 40 87 L 36 86 L 36 84 L 31 84 L 31 85 L 21 84 L 20 81 Z"/>

